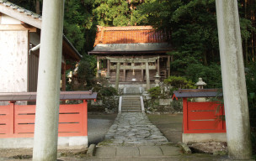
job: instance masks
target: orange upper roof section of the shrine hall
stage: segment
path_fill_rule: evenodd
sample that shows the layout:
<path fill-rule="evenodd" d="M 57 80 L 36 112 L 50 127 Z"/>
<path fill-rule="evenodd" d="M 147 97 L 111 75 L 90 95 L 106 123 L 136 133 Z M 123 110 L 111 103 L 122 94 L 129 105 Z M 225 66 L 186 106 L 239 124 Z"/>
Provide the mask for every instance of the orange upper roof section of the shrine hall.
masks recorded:
<path fill-rule="evenodd" d="M 98 26 L 94 46 L 97 44 L 166 43 L 168 39 L 170 39 L 168 32 L 157 31 L 152 26 Z"/>

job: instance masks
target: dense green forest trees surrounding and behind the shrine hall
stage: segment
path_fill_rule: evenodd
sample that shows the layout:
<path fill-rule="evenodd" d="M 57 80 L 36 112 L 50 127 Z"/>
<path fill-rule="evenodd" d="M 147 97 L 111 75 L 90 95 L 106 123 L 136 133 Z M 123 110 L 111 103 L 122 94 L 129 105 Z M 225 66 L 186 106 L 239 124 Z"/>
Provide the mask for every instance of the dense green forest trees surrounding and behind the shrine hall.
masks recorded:
<path fill-rule="evenodd" d="M 9 0 L 40 13 L 42 0 Z M 256 149 L 256 3 L 238 0 L 243 59 L 247 77 L 248 103 L 254 153 Z M 97 25 L 152 25 L 171 33 L 173 45 L 171 71 L 207 88 L 221 88 L 221 63 L 218 46 L 215 0 L 66 0 L 64 34 L 76 47 L 80 61 L 80 80 L 93 84 L 96 60 L 87 54 L 93 49 Z"/>

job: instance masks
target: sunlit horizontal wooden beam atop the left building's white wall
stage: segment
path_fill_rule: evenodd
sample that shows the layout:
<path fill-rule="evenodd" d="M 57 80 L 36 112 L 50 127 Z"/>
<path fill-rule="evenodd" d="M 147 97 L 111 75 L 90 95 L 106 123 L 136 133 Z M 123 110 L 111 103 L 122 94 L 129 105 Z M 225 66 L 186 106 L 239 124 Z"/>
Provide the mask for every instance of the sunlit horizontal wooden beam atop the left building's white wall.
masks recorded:
<path fill-rule="evenodd" d="M 0 24 L 0 31 L 19 31 L 19 30 L 28 30 L 30 33 L 35 33 L 35 27 L 24 27 L 21 24 Z"/>

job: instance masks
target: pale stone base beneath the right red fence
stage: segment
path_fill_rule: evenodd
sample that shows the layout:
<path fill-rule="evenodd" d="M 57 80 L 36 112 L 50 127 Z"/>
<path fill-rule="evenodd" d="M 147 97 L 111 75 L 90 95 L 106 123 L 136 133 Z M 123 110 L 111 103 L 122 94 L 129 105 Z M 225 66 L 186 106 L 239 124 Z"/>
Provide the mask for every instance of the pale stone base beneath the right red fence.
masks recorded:
<path fill-rule="evenodd" d="M 227 142 L 227 133 L 183 133 L 183 143 Z"/>

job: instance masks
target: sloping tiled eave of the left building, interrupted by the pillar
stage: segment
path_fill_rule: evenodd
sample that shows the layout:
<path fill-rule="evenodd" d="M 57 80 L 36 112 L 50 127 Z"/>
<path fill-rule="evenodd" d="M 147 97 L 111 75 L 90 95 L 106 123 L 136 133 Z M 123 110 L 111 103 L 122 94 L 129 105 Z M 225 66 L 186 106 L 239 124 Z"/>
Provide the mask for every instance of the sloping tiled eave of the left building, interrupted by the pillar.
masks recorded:
<path fill-rule="evenodd" d="M 39 14 L 33 13 L 32 11 L 19 7 L 16 4 L 8 2 L 7 0 L 0 0 L 0 12 L 10 17 L 19 19 L 24 23 L 28 23 L 37 29 L 41 29 L 42 17 Z M 74 53 L 76 54 L 74 56 L 75 60 L 81 60 L 83 56 L 79 54 L 77 49 L 75 49 L 75 47 L 64 34 L 63 39 L 67 42 L 69 47 L 73 49 Z"/>

